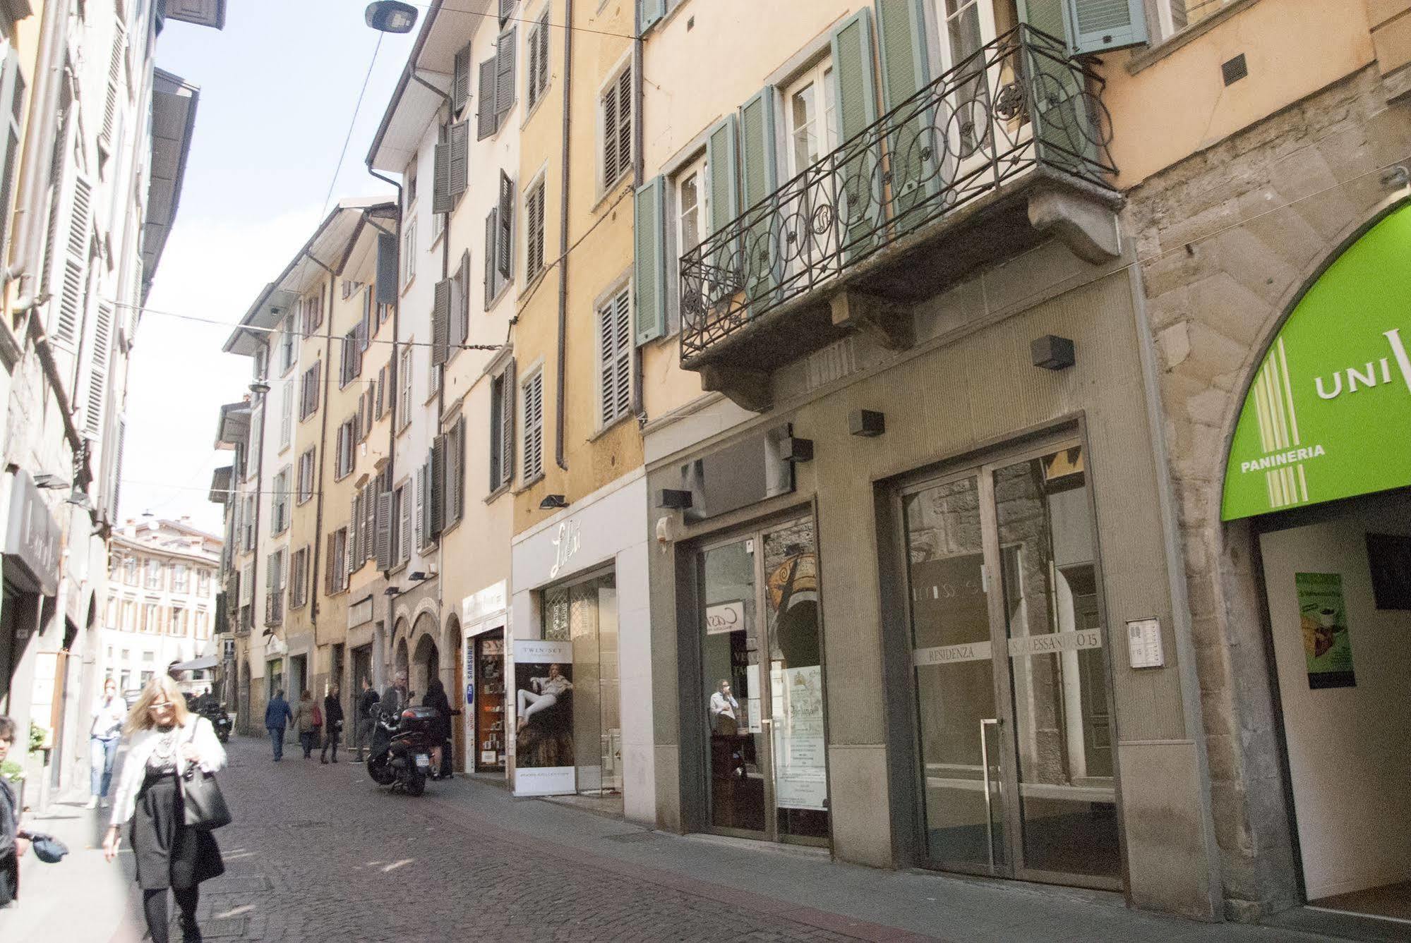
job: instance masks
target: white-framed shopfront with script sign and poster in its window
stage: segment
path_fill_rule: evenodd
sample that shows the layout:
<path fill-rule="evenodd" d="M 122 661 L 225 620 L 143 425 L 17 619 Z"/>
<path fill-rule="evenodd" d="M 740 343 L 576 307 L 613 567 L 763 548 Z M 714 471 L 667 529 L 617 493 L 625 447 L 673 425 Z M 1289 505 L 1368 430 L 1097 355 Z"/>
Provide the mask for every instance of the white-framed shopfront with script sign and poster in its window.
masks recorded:
<path fill-rule="evenodd" d="M 516 792 L 597 796 L 639 822 L 655 818 L 645 510 L 634 472 L 515 538 L 505 675 L 490 681 L 507 688 Z"/>

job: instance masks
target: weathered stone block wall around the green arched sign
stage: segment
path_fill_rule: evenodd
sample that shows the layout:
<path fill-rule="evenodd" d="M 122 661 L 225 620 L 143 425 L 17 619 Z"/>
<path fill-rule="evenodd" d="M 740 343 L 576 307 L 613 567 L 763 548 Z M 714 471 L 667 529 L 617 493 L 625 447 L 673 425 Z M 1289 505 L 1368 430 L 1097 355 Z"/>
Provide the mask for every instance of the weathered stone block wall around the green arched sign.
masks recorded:
<path fill-rule="evenodd" d="M 1147 179 L 1129 195 L 1156 338 L 1233 919 L 1298 899 L 1291 822 L 1246 522 L 1219 520 L 1245 390 L 1300 293 L 1381 209 L 1411 161 L 1411 107 L 1377 66 Z"/>

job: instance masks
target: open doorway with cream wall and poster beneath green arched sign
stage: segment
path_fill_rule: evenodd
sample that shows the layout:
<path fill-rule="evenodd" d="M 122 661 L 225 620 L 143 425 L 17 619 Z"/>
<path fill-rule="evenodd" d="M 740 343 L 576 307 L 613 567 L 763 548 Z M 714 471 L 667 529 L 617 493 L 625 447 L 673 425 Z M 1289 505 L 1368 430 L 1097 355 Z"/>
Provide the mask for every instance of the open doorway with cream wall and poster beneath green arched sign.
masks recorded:
<path fill-rule="evenodd" d="M 1257 524 L 1304 892 L 1411 920 L 1411 489 Z"/>

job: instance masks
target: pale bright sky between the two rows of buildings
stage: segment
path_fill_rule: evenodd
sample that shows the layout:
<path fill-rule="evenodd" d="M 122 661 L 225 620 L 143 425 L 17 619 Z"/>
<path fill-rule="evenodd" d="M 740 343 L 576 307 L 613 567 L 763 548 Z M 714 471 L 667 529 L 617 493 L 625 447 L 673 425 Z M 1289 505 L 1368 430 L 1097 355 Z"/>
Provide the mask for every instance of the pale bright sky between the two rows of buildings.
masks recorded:
<path fill-rule="evenodd" d="M 378 48 L 364 6 L 231 0 L 223 31 L 168 23 L 158 38 L 158 68 L 199 86 L 200 100 L 176 223 L 133 350 L 121 520 L 189 514 L 198 527 L 222 531 L 222 509 L 207 491 L 231 452 L 214 448 L 216 420 L 251 381 L 248 358 L 220 350 L 226 324 L 238 323 L 308 241 L 330 183 L 330 204 L 392 192 L 368 176 L 363 159 L 415 31 L 382 35 Z"/>

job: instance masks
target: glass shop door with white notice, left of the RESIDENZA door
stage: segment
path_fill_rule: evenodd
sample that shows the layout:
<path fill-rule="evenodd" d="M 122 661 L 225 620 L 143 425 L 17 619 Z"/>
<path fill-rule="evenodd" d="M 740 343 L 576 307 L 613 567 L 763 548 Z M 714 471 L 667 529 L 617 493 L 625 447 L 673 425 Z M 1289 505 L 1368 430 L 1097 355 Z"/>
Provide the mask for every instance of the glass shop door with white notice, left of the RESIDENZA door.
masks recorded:
<path fill-rule="evenodd" d="M 701 688 L 710 827 L 827 844 L 818 557 L 813 517 L 706 546 Z"/>

